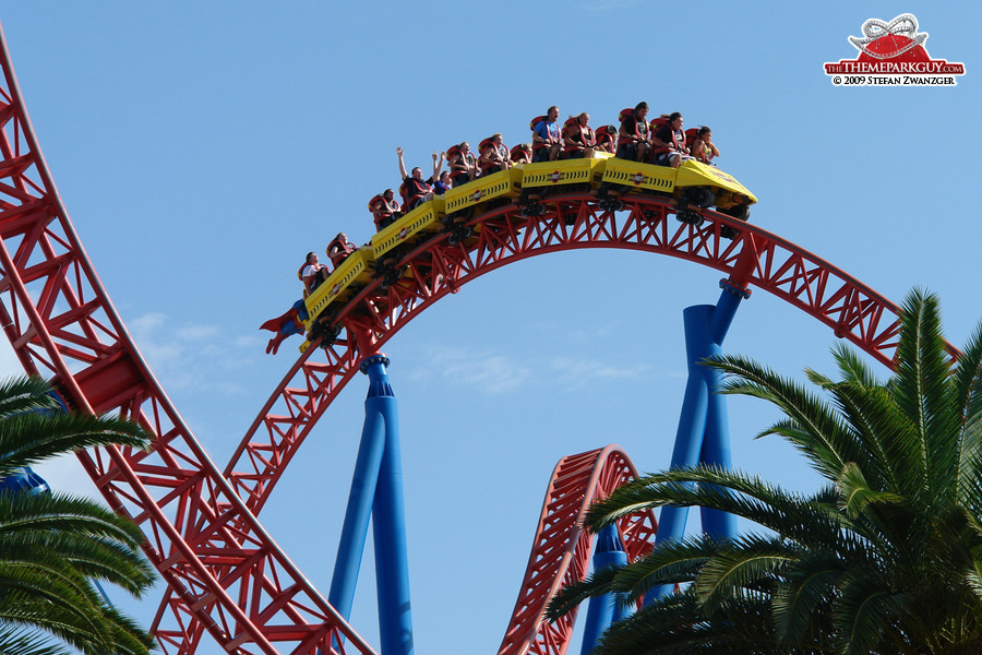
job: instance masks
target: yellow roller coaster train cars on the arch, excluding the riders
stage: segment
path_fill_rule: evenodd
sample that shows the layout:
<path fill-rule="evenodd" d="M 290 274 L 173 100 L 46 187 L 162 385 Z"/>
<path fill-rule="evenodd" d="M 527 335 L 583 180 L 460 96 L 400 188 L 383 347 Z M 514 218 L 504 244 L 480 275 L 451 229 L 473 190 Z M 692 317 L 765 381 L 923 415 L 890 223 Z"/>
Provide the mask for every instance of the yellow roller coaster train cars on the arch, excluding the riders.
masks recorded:
<path fill-rule="evenodd" d="M 470 250 L 478 246 L 480 240 L 475 235 L 481 230 L 501 231 L 507 227 L 520 231 L 524 227 L 514 216 L 511 223 L 507 219 L 505 223 L 476 221 L 475 216 L 488 216 L 492 210 L 513 204 L 523 217 L 535 221 L 547 211 L 547 199 L 560 206 L 567 196 L 585 194 L 595 196 L 597 206 L 607 211 L 623 210 L 623 195 L 661 199 L 673 204 L 679 221 L 696 227 L 704 221 L 697 209 L 715 206 L 718 212 L 746 221 L 750 205 L 757 201 L 733 176 L 694 159 L 674 169 L 618 159 L 598 152 L 590 158 L 518 164 L 454 187 L 445 196 L 436 195 L 421 203 L 381 229 L 366 247 L 348 255 L 304 299 L 308 317 L 304 327 L 309 336 L 300 346 L 301 353 L 311 343 L 332 343 L 343 329 L 337 317 L 357 290 L 374 278 L 381 278 L 382 291 L 397 284 L 403 276 L 409 275 L 408 265 L 404 263 L 406 255 L 440 233 L 446 234 L 448 246 Z M 573 227 L 580 218 L 575 205 L 566 206 L 563 217 L 566 225 Z M 738 234 L 732 226 L 720 226 L 720 235 L 726 238 Z M 407 281 L 407 284 L 412 283 Z"/>

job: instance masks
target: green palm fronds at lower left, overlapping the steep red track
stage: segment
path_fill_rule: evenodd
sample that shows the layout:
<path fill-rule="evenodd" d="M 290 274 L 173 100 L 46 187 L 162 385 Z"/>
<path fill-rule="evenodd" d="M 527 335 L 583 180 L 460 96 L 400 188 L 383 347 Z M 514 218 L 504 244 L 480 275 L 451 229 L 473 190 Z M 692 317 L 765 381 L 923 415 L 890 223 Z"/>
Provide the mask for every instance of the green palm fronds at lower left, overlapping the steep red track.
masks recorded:
<path fill-rule="evenodd" d="M 79 449 L 147 448 L 134 422 L 64 412 L 44 381 L 0 383 L 0 478 Z M 141 595 L 153 568 L 130 521 L 82 498 L 0 493 L 0 653 L 86 655 L 148 653 L 154 642 L 108 605 L 93 581 Z"/>

